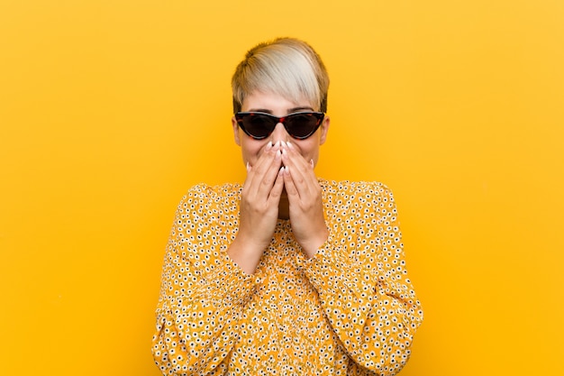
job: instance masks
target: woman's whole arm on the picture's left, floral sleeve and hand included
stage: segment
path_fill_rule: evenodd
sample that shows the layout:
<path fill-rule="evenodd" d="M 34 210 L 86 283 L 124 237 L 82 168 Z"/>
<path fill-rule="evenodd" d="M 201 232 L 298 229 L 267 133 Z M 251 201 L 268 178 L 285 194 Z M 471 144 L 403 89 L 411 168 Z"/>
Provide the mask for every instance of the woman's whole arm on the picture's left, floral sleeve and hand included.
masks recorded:
<path fill-rule="evenodd" d="M 232 203 L 221 206 L 221 195 L 201 187 L 191 189 L 178 206 L 153 338 L 163 373 L 226 370 L 243 308 L 256 286 L 250 274 L 277 223 L 281 158 L 279 144 L 268 142 L 257 163 L 248 165 L 239 210 Z M 238 199 L 232 191 L 223 193 L 223 199 Z"/>

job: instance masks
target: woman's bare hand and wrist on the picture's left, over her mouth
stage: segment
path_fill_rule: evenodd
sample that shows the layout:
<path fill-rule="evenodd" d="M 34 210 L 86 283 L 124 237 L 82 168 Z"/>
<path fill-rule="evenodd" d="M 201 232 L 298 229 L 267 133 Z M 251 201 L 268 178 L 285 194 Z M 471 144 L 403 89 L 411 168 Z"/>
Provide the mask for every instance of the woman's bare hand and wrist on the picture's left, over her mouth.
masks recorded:
<path fill-rule="evenodd" d="M 247 164 L 247 179 L 241 192 L 239 232 L 227 253 L 247 274 L 253 274 L 260 256 L 272 240 L 277 224 L 278 203 L 284 188 L 280 173 L 279 142 L 268 142 L 254 166 Z"/>

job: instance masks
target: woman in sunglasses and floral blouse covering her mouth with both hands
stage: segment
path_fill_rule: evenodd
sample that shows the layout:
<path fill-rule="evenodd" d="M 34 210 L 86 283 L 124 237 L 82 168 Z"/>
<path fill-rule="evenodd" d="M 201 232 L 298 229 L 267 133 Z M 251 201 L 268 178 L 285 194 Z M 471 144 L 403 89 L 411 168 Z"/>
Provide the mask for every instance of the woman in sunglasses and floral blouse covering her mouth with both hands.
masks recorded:
<path fill-rule="evenodd" d="M 165 375 L 393 375 L 423 311 L 396 205 L 315 176 L 329 77 L 304 41 L 249 50 L 232 78 L 244 184 L 191 188 L 165 256 L 153 355 Z"/>

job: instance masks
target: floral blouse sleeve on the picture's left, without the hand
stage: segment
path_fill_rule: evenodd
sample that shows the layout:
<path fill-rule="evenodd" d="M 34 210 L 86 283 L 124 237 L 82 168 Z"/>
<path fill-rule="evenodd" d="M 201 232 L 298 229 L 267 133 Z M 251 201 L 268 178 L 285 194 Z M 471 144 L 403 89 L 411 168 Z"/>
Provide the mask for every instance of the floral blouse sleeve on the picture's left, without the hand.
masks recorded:
<path fill-rule="evenodd" d="M 224 208 L 203 186 L 192 188 L 177 207 L 152 346 L 163 374 L 222 374 L 237 341 L 255 280 L 223 252 L 237 220 Z"/>

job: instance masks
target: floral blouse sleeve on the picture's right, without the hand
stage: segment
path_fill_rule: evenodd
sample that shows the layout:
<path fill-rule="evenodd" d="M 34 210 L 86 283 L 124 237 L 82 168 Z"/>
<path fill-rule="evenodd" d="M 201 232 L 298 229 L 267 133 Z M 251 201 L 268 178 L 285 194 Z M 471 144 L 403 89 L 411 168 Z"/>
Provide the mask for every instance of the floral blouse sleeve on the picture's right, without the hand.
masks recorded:
<path fill-rule="evenodd" d="M 407 362 L 423 320 L 405 270 L 396 205 L 378 183 L 344 188 L 340 196 L 342 190 L 327 194 L 328 241 L 314 258 L 300 263 L 354 362 L 350 369 L 394 375 Z"/>

